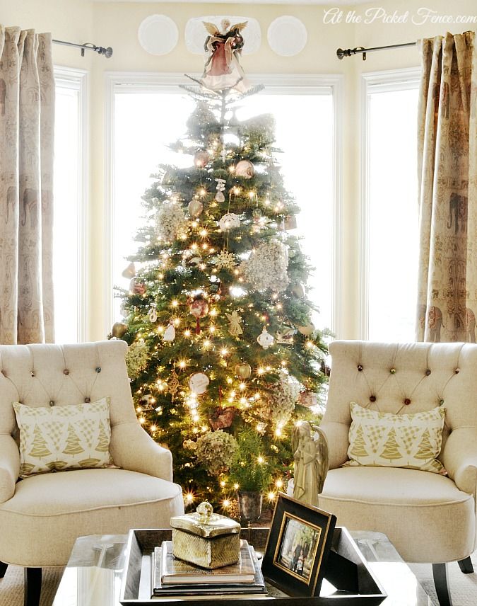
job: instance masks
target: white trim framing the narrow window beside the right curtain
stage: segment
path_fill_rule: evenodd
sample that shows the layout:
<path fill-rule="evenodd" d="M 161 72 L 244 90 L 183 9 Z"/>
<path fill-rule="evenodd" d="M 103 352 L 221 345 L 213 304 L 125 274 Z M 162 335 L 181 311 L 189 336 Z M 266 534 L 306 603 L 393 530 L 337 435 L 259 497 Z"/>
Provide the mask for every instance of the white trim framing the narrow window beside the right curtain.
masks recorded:
<path fill-rule="evenodd" d="M 368 72 L 361 79 L 360 246 L 359 246 L 359 338 L 369 338 L 369 242 L 370 242 L 370 93 L 406 91 L 419 85 L 420 67 Z M 416 202 L 417 203 L 417 202 Z"/>

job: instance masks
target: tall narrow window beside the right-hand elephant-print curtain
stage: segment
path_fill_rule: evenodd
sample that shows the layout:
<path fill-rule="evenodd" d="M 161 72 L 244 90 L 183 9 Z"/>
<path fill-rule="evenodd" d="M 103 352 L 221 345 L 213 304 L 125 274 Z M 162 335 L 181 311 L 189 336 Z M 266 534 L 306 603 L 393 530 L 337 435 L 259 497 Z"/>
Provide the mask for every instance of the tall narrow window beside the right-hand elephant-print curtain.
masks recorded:
<path fill-rule="evenodd" d="M 413 341 L 419 70 L 363 76 L 361 336 Z"/>

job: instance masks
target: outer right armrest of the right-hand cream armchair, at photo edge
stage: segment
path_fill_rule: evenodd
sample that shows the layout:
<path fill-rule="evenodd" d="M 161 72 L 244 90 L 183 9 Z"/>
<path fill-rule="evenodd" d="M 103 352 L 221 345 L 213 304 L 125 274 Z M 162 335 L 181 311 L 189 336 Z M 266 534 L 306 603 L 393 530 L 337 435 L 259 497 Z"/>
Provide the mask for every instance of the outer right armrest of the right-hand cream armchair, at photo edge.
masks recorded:
<path fill-rule="evenodd" d="M 440 459 L 457 488 L 476 496 L 477 428 L 459 427 L 452 431 Z"/>

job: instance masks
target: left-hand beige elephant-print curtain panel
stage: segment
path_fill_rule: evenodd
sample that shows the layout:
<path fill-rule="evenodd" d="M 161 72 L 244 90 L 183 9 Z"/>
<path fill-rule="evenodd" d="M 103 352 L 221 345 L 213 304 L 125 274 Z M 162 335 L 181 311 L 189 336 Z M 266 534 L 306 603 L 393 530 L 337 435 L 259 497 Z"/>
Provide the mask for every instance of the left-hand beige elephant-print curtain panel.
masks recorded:
<path fill-rule="evenodd" d="M 52 38 L 0 25 L 0 343 L 54 341 Z"/>

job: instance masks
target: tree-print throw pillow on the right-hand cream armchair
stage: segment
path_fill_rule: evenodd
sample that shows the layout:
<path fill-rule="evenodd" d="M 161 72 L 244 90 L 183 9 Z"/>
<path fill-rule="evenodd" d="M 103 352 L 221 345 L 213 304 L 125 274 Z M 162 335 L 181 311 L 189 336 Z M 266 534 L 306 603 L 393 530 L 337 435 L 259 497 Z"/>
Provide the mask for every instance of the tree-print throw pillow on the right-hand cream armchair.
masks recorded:
<path fill-rule="evenodd" d="M 351 402 L 348 465 L 409 467 L 445 474 L 436 459 L 442 447 L 445 408 L 393 415 Z"/>

